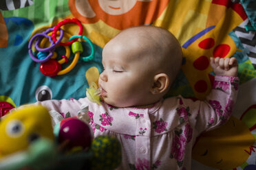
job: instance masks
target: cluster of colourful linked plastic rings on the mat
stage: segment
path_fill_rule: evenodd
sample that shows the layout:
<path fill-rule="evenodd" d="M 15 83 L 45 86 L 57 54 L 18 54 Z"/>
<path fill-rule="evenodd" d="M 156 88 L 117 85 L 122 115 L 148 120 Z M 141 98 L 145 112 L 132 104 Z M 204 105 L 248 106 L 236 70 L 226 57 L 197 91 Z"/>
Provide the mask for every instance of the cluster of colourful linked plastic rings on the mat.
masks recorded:
<path fill-rule="evenodd" d="M 70 34 L 67 34 L 61 29 L 61 26 L 68 24 L 68 23 L 75 23 L 78 25 L 79 32 L 78 35 L 71 36 Z M 59 31 L 58 31 L 59 30 Z M 52 33 L 51 33 L 52 32 Z M 70 72 L 74 66 L 76 66 L 76 63 L 78 62 L 81 53 L 83 52 L 83 46 L 81 45 L 81 42 L 77 42 L 78 38 L 82 38 L 86 40 L 89 43 L 89 46 L 92 49 L 92 52 L 89 54 L 89 56 L 81 57 L 81 60 L 84 62 L 90 61 L 94 59 L 94 45 L 89 38 L 86 36 L 82 36 L 83 34 L 83 26 L 78 19 L 65 19 L 61 22 L 59 22 L 55 27 L 47 29 L 45 32 L 35 34 L 32 36 L 29 45 L 28 45 L 28 53 L 30 54 L 30 57 L 34 62 L 40 62 L 40 71 L 43 73 L 43 75 L 53 77 L 56 75 L 63 75 L 65 73 Z M 58 40 L 56 39 L 56 36 L 59 36 Z M 63 36 L 67 39 L 69 39 L 68 42 L 61 42 L 63 40 Z M 36 42 L 34 43 L 34 41 Z M 46 40 L 49 40 L 51 43 L 50 47 L 45 47 Z M 39 51 L 36 53 L 36 57 L 34 56 L 34 53 L 32 51 L 32 45 L 34 44 L 34 48 Z M 39 47 L 40 45 L 40 47 Z M 56 61 L 57 54 L 54 51 L 56 49 L 57 45 L 61 45 L 65 47 L 66 54 L 61 56 L 61 60 Z M 65 69 L 61 70 L 61 64 L 64 64 L 68 62 L 70 58 L 70 47 L 68 45 L 72 45 L 72 52 L 75 54 L 74 59 L 72 60 L 71 64 L 67 66 Z"/>

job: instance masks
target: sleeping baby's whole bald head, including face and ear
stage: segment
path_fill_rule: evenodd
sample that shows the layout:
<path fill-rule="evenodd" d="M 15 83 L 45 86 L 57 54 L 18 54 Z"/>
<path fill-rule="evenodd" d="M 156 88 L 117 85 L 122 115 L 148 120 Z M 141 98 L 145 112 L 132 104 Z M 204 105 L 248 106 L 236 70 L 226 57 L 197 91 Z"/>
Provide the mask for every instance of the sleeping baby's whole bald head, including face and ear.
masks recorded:
<path fill-rule="evenodd" d="M 99 86 L 107 92 L 104 100 L 121 107 L 153 104 L 168 92 L 181 63 L 178 40 L 166 29 L 125 29 L 103 49 Z"/>

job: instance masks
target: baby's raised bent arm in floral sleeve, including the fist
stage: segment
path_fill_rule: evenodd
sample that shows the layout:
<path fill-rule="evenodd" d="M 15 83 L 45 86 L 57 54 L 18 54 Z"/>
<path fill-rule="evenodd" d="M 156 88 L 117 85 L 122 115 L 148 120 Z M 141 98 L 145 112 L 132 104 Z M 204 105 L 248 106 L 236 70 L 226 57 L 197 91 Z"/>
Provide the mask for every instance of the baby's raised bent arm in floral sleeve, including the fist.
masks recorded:
<path fill-rule="evenodd" d="M 238 64 L 235 58 L 211 58 L 211 66 L 215 73 L 212 90 L 204 101 L 186 100 L 184 103 L 191 110 L 197 112 L 191 121 L 196 120 L 195 127 L 198 132 L 211 130 L 222 125 L 231 117 L 235 106 L 239 78 Z M 198 110 L 198 111 L 197 111 Z"/>

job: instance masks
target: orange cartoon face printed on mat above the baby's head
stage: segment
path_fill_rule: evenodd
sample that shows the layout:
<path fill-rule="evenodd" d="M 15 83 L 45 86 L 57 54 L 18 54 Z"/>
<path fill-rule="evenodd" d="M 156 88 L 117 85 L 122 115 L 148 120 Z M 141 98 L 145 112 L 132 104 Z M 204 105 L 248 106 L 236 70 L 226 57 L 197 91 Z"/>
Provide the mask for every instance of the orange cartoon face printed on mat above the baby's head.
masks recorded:
<path fill-rule="evenodd" d="M 101 20 L 116 29 L 125 29 L 153 23 L 168 2 L 169 0 L 70 0 L 69 6 L 72 14 L 82 23 Z"/>

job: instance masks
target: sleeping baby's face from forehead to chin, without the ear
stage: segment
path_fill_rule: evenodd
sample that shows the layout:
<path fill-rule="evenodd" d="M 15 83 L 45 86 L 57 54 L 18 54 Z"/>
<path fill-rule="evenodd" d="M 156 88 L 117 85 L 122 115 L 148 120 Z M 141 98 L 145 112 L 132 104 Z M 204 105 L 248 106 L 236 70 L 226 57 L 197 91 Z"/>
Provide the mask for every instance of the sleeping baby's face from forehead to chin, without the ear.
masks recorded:
<path fill-rule="evenodd" d="M 116 107 L 145 105 L 150 99 L 153 73 L 147 61 L 138 58 L 138 47 L 131 43 L 109 42 L 103 49 L 104 71 L 98 84 L 101 97 Z"/>

